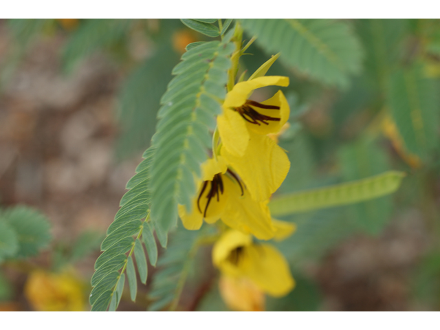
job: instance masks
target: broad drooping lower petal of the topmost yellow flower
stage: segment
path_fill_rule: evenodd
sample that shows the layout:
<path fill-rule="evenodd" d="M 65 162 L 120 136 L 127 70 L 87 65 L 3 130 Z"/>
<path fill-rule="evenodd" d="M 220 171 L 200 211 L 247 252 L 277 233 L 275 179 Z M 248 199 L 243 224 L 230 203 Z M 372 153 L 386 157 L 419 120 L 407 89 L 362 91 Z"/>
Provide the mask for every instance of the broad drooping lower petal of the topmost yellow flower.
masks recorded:
<path fill-rule="evenodd" d="M 289 172 L 289 158 L 270 137 L 250 132 L 250 141 L 243 157 L 221 148 L 221 155 L 243 179 L 256 201 L 270 198 Z"/>

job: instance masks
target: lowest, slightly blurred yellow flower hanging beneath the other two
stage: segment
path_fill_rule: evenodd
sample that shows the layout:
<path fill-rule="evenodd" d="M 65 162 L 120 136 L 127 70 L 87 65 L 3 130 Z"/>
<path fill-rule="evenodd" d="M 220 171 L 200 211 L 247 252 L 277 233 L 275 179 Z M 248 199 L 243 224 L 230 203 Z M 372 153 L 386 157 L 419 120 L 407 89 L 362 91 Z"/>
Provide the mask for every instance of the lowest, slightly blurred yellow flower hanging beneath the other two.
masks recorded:
<path fill-rule="evenodd" d="M 283 254 L 270 244 L 253 243 L 252 236 L 236 230 L 225 232 L 214 244 L 212 262 L 222 276 L 251 281 L 270 296 L 285 296 L 295 286 Z"/>

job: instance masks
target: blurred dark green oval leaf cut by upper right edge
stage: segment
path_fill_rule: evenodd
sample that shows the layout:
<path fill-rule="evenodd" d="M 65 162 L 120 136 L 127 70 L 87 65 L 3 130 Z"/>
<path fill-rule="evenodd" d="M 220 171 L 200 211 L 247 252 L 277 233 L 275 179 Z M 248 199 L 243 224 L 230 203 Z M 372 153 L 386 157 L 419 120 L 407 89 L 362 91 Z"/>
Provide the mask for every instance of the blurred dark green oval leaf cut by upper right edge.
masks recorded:
<path fill-rule="evenodd" d="M 395 72 L 389 80 L 388 105 L 406 151 L 424 160 L 440 144 L 438 87 L 417 65 Z"/>

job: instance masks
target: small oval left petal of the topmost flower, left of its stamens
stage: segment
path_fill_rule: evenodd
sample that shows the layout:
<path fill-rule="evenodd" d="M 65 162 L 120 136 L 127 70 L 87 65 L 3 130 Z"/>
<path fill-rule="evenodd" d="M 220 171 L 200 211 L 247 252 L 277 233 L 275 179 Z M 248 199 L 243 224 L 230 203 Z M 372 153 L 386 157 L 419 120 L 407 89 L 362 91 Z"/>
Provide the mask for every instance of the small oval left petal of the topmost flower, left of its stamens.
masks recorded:
<path fill-rule="evenodd" d="M 245 120 L 234 110 L 227 109 L 217 117 L 217 127 L 223 147 L 240 157 L 248 148 L 249 133 Z"/>

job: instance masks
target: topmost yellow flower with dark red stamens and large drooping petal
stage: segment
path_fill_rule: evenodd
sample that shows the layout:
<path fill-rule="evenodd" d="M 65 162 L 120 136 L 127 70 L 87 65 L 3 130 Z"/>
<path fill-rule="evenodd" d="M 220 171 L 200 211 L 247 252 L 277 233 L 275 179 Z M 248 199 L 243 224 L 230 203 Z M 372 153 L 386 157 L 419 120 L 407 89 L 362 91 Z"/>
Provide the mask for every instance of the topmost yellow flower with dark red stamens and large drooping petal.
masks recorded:
<path fill-rule="evenodd" d="M 257 201 L 265 201 L 281 186 L 290 162 L 283 149 L 267 134 L 281 131 L 289 118 L 289 104 L 281 91 L 264 102 L 249 100 L 254 89 L 287 86 L 289 78 L 263 76 L 237 83 L 226 95 L 217 117 L 221 155 Z"/>

